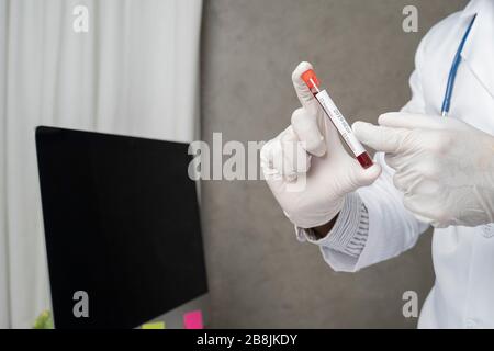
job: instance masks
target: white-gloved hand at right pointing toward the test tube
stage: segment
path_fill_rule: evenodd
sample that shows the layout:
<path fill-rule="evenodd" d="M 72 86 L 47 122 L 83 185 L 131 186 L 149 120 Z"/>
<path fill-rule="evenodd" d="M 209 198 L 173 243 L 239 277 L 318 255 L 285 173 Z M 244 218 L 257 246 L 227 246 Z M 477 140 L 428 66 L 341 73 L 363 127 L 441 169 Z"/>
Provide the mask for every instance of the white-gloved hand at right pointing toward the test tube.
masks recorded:
<path fill-rule="evenodd" d="M 494 137 L 451 117 L 388 113 L 357 137 L 396 170 L 404 205 L 435 227 L 494 223 Z"/>

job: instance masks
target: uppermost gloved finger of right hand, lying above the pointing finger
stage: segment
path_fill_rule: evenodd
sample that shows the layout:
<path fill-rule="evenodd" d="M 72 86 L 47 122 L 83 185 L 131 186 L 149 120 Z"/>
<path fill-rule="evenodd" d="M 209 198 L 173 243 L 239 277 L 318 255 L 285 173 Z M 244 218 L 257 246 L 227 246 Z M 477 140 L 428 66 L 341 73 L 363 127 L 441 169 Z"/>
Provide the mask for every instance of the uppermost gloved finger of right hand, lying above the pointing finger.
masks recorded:
<path fill-rule="evenodd" d="M 379 125 L 405 129 L 458 129 L 460 125 L 457 122 L 459 120 L 406 112 L 389 112 L 379 116 Z"/>

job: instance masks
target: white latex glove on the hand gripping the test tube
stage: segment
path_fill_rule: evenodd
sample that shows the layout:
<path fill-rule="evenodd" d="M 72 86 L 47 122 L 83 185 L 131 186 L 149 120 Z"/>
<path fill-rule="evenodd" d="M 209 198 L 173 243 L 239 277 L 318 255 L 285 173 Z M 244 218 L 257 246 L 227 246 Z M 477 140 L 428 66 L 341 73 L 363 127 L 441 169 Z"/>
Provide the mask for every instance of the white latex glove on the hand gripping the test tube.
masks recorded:
<path fill-rule="evenodd" d="M 292 76 L 302 109 L 293 112 L 291 125 L 261 150 L 269 188 L 301 228 L 329 223 L 340 212 L 346 194 L 371 184 L 381 173 L 379 165 L 362 169 L 344 149 L 338 132 L 301 79 L 307 69 L 312 66 L 302 63 Z"/>

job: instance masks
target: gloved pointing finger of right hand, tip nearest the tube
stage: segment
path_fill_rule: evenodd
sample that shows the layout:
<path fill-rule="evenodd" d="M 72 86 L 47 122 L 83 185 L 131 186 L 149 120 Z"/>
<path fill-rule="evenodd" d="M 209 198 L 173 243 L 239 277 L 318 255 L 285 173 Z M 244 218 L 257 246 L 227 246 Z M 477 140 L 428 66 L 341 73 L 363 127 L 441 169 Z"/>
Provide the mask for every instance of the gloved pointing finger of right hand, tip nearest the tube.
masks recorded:
<path fill-rule="evenodd" d="M 375 126 L 366 122 L 356 122 L 352 126 L 357 138 L 377 151 L 398 154 L 411 145 L 412 132 L 404 128 Z"/>

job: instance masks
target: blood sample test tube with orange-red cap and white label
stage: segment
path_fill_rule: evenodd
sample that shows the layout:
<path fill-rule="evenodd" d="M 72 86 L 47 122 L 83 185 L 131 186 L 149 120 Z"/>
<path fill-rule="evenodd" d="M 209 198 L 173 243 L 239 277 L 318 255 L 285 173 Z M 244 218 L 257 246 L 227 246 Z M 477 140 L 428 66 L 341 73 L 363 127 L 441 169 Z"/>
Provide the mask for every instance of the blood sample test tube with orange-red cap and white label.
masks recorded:
<path fill-rule="evenodd" d="M 301 78 L 305 84 L 307 84 L 308 89 L 314 94 L 314 98 L 319 102 L 321 107 L 329 117 L 339 135 L 341 135 L 343 139 L 348 145 L 348 148 L 351 150 L 357 161 L 359 161 L 360 166 L 364 169 L 371 167 L 373 165 L 372 159 L 363 148 L 362 144 L 360 144 L 355 136 L 350 125 L 345 120 L 341 112 L 339 112 L 338 107 L 336 107 L 326 89 L 321 88 L 319 80 L 317 79 L 314 70 L 310 69 L 303 72 Z"/>

